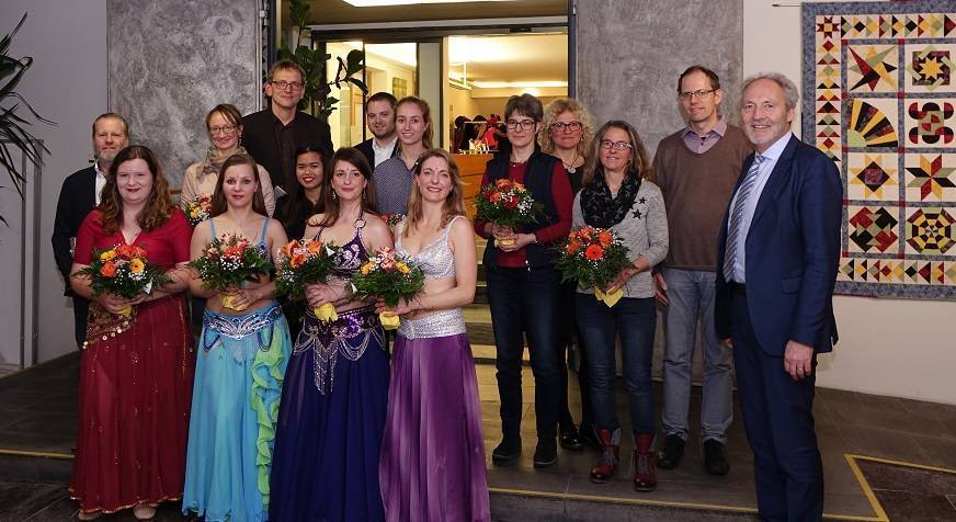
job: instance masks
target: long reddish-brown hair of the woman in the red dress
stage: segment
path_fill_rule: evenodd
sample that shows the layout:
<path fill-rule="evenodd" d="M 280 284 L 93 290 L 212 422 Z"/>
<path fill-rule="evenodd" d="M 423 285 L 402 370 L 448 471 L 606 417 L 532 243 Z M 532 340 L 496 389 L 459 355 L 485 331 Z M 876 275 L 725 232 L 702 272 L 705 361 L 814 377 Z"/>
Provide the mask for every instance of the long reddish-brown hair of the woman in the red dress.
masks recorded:
<path fill-rule="evenodd" d="M 103 197 L 99 208 L 102 214 L 103 229 L 110 234 L 123 226 L 123 200 L 120 197 L 120 188 L 116 186 L 116 172 L 121 164 L 134 159 L 146 161 L 149 173 L 152 174 L 152 191 L 149 193 L 146 206 L 136 218 L 139 227 L 144 230 L 159 227 L 169 219 L 173 206 L 172 197 L 169 195 L 169 183 L 162 175 L 159 159 L 156 158 L 152 150 L 141 145 L 130 145 L 113 158 L 113 162 L 110 163 L 110 175 L 106 177 L 106 184 L 103 185 Z"/>

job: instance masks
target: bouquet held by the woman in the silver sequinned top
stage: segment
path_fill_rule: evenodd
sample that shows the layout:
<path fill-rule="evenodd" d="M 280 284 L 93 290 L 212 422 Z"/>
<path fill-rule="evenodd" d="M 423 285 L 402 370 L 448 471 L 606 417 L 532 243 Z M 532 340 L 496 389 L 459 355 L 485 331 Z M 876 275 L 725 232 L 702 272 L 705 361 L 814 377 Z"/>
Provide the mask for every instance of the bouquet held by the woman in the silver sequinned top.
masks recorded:
<path fill-rule="evenodd" d="M 405 299 L 406 303 L 411 300 L 424 284 L 425 276 L 421 269 L 385 247 L 378 249 L 352 276 L 352 293 L 361 298 L 380 297 L 387 306 L 394 307 L 398 306 L 398 299 Z M 398 316 L 385 311 L 378 318 L 386 330 L 394 330 L 400 324 Z"/>

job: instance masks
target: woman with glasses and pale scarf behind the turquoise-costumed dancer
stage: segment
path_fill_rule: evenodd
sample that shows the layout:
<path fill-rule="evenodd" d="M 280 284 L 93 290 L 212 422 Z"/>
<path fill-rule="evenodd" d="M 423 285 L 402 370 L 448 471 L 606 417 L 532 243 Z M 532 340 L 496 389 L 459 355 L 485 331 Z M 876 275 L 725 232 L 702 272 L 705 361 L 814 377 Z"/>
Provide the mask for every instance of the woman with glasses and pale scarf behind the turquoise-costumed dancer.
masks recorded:
<path fill-rule="evenodd" d="M 242 137 L 242 114 L 234 105 L 220 103 L 206 114 L 206 132 L 209 133 L 209 143 L 206 156 L 202 161 L 191 164 L 183 175 L 182 191 L 180 192 L 180 206 L 186 205 L 201 196 L 210 196 L 216 190 L 216 180 L 223 162 L 232 155 L 247 154 L 239 145 Z M 272 191 L 272 181 L 269 172 L 260 164 L 259 184 L 262 186 L 262 196 L 265 200 L 265 212 L 271 216 L 275 212 L 275 194 Z"/>

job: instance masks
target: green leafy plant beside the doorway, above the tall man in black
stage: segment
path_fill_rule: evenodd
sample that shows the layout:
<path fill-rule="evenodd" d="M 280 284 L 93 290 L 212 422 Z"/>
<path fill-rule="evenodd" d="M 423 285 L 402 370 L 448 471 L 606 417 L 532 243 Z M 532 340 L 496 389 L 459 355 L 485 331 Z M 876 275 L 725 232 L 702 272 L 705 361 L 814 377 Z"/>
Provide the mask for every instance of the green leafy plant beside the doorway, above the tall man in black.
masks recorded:
<path fill-rule="evenodd" d="M 298 31 L 296 45 L 295 50 L 293 50 L 283 44 L 278 50 L 278 58 L 295 61 L 306 73 L 305 91 L 303 100 L 299 102 L 299 109 L 310 109 L 314 115 L 326 120 L 335 110 L 335 104 L 339 103 L 339 99 L 331 95 L 332 86 L 341 89 L 342 86 L 351 83 L 363 93 L 368 92 L 365 82 L 355 78 L 365 69 L 365 53 L 353 49 L 349 52 L 344 60 L 341 56 L 337 57 L 339 67 L 335 69 L 335 76 L 332 80 L 328 80 L 326 65 L 332 55 L 301 45 L 303 33 L 309 31 L 307 22 L 309 8 L 310 5 L 306 0 L 292 0 L 289 2 L 289 19 L 292 19 L 293 27 Z"/>

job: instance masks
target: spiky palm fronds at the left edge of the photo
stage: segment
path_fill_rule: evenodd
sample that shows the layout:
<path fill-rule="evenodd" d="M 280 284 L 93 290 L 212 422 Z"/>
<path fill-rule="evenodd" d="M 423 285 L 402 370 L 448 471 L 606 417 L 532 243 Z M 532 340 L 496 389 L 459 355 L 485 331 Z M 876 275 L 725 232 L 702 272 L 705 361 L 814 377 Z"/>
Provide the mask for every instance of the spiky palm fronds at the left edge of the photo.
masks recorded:
<path fill-rule="evenodd" d="M 31 163 L 39 166 L 43 163 L 43 151 L 49 152 L 49 149 L 30 134 L 25 128 L 30 126 L 27 116 L 23 114 L 23 111 L 18 114 L 18 110 L 21 106 L 25 107 L 25 111 L 30 112 L 37 121 L 56 125 L 56 123 L 37 114 L 30 106 L 30 102 L 14 90 L 20 80 L 23 79 L 23 75 L 33 65 L 33 58 L 30 56 L 14 58 L 8 55 L 13 35 L 20 31 L 24 21 L 26 21 L 25 13 L 13 32 L 0 39 L 0 167 L 7 169 L 10 181 L 13 182 L 20 197 L 23 197 L 26 173 L 21 172 L 16 167 L 12 150 L 19 149 Z M 0 222 L 7 224 L 3 216 L 0 216 Z"/>

